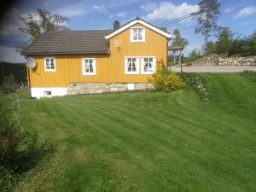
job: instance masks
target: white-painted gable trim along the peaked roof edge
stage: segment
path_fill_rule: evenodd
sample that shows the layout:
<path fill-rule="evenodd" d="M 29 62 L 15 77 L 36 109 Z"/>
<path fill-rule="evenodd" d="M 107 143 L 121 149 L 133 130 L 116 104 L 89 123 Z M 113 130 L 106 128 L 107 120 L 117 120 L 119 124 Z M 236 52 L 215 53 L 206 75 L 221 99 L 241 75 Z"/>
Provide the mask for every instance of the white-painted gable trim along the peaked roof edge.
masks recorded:
<path fill-rule="evenodd" d="M 152 26 L 150 24 L 148 24 L 148 22 L 145 22 L 143 20 L 133 20 L 130 23 L 127 23 L 125 26 L 120 27 L 118 30 L 116 30 L 115 32 L 112 32 L 111 34 L 109 34 L 108 36 L 105 36 L 106 39 L 109 38 L 113 38 L 113 36 L 116 36 L 117 34 L 119 34 L 120 32 L 124 32 L 126 29 L 128 29 L 131 26 L 134 26 L 135 24 L 141 24 L 143 26 L 147 26 L 149 29 L 153 30 L 154 32 L 158 32 L 161 35 L 165 36 L 166 38 L 172 38 L 172 35 L 167 33 L 167 32 L 163 32 L 162 30 L 160 30 L 159 28 Z"/>

